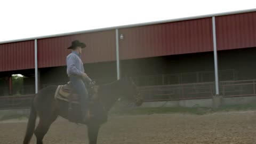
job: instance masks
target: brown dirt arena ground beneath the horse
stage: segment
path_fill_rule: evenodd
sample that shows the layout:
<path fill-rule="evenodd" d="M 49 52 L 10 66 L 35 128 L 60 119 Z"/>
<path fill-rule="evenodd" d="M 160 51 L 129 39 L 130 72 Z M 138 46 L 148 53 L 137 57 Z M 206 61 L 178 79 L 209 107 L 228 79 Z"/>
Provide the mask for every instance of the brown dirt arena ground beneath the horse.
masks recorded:
<path fill-rule="evenodd" d="M 0 143 L 22 143 L 26 124 L 26 119 L 0 122 Z M 59 118 L 44 143 L 87 143 L 86 126 Z M 256 111 L 111 116 L 100 129 L 98 143 L 256 143 Z"/>

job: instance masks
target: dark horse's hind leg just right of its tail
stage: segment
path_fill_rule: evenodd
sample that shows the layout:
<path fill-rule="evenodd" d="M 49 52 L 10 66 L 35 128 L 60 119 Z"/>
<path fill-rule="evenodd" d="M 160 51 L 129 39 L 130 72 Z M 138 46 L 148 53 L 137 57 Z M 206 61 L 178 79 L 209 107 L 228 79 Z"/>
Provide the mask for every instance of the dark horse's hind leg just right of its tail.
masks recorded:
<path fill-rule="evenodd" d="M 49 119 L 42 119 L 42 118 L 39 119 L 39 123 L 35 130 L 37 144 L 43 144 L 44 135 L 47 133 L 51 124 L 55 121 L 56 118 L 57 116 L 51 119 L 51 121 L 49 121 Z"/>

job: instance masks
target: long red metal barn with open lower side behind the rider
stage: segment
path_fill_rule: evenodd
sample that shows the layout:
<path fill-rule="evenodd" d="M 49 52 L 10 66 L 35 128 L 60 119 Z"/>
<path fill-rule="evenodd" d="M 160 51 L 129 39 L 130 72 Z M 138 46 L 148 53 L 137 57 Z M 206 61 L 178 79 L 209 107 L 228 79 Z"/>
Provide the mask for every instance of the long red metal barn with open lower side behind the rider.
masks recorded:
<path fill-rule="evenodd" d="M 145 101 L 256 96 L 253 9 L 0 42 L 0 98 L 67 83 L 75 39 L 87 45 L 82 60 L 92 79 L 132 77 Z M 17 91 L 15 74 L 24 76 Z"/>

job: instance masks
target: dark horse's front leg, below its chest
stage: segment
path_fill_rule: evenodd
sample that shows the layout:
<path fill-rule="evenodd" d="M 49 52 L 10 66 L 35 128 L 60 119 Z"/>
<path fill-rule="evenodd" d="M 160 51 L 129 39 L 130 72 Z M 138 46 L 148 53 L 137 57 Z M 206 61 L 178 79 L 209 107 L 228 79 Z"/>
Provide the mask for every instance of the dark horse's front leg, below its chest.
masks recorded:
<path fill-rule="evenodd" d="M 88 137 L 89 144 L 96 144 L 100 125 L 99 124 L 89 124 L 88 125 Z"/>

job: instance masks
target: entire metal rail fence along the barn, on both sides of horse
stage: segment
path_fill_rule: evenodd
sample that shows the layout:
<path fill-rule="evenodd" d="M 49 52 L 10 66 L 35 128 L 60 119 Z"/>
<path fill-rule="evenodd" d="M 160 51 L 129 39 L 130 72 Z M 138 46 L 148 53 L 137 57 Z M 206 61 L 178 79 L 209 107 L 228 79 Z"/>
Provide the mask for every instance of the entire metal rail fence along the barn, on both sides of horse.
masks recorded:
<path fill-rule="evenodd" d="M 225 98 L 256 96 L 256 80 L 222 81 L 220 94 Z M 45 85 L 46 86 L 46 85 Z M 212 98 L 214 82 L 139 86 L 144 101 L 173 101 Z M 0 109 L 29 108 L 34 94 L 0 97 Z"/>

